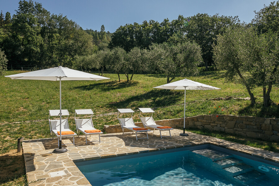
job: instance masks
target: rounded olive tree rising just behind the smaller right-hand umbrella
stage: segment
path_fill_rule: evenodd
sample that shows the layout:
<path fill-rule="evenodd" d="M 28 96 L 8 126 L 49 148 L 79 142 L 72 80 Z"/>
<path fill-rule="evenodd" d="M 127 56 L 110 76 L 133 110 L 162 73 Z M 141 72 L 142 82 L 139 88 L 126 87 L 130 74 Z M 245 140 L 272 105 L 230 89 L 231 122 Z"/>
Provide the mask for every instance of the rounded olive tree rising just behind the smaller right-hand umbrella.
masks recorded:
<path fill-rule="evenodd" d="M 196 74 L 202 62 L 201 49 L 193 42 L 153 44 L 145 59 L 149 59 L 149 69 L 166 75 L 167 83 L 179 76 Z"/>

